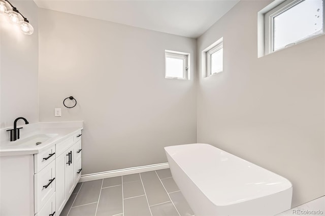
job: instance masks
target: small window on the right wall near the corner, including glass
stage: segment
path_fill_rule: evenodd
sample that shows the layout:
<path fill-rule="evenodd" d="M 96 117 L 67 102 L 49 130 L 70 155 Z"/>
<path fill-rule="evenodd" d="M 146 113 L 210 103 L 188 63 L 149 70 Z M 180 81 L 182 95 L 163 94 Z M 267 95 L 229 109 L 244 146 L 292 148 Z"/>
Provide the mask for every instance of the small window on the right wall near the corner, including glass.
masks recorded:
<path fill-rule="evenodd" d="M 203 77 L 209 77 L 223 71 L 223 38 L 202 51 Z"/>

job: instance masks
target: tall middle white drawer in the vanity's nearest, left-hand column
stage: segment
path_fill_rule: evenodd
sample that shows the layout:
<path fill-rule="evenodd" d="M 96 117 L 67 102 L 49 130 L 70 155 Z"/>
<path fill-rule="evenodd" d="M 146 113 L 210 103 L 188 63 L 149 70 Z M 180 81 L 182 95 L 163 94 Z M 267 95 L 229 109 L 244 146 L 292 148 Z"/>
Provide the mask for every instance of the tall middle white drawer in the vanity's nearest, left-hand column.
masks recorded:
<path fill-rule="evenodd" d="M 38 213 L 44 204 L 55 192 L 55 161 L 52 161 L 39 173 L 34 175 L 35 213 Z"/>

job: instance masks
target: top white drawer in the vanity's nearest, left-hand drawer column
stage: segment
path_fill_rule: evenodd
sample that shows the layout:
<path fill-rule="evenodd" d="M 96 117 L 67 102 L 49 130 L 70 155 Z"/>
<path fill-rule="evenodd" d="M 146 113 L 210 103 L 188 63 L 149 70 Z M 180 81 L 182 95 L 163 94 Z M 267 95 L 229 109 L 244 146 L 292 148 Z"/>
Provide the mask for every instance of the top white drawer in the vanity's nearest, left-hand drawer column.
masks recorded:
<path fill-rule="evenodd" d="M 34 155 L 34 173 L 38 173 L 55 159 L 55 146 Z"/>

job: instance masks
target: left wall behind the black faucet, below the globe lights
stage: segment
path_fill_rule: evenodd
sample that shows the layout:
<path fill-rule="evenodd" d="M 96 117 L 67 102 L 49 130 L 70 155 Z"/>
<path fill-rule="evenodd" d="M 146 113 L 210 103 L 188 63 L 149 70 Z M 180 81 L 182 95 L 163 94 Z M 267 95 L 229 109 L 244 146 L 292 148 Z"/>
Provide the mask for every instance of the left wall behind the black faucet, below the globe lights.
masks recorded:
<path fill-rule="evenodd" d="M 10 1 L 34 27 L 23 34 L 0 15 L 0 128 L 17 117 L 38 122 L 38 7 L 33 1 Z"/>

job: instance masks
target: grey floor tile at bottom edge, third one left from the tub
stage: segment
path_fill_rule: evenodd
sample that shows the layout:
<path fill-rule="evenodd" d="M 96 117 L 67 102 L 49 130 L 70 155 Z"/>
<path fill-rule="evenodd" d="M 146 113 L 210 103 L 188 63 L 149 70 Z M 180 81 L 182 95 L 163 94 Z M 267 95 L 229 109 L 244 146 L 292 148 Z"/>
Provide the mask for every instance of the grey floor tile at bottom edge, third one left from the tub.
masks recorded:
<path fill-rule="evenodd" d="M 146 196 L 124 199 L 124 216 L 151 216 Z"/>

